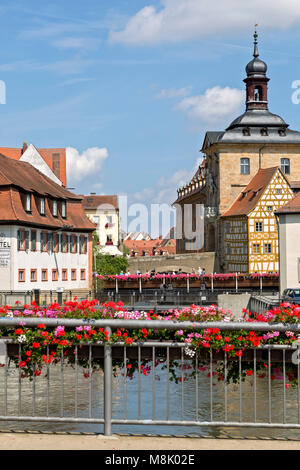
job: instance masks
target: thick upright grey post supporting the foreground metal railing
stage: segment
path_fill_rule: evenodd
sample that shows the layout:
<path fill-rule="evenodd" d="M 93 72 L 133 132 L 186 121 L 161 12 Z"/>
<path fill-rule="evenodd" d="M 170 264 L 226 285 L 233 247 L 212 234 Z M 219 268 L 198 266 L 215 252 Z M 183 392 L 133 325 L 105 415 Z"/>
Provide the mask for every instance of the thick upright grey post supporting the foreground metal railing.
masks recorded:
<path fill-rule="evenodd" d="M 111 338 L 111 328 L 106 328 Z M 111 436 L 112 426 L 112 348 L 110 344 L 104 346 L 104 435 Z"/>

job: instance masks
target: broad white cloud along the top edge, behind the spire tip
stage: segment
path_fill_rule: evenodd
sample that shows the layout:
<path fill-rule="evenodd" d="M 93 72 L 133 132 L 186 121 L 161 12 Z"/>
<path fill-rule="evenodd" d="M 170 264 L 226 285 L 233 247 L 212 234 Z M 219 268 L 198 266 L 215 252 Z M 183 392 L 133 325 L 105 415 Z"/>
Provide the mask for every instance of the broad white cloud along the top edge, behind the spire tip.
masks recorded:
<path fill-rule="evenodd" d="M 180 42 L 233 31 L 281 29 L 300 24 L 298 0 L 161 0 L 129 19 L 125 28 L 110 32 L 110 41 L 132 45 Z"/>

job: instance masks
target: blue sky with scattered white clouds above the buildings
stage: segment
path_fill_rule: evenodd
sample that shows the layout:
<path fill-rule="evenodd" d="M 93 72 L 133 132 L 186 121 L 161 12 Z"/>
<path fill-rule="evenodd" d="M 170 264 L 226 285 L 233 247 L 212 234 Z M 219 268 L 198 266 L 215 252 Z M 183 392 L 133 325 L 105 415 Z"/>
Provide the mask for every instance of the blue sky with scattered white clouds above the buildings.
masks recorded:
<path fill-rule="evenodd" d="M 205 132 L 244 111 L 256 23 L 270 111 L 300 130 L 297 0 L 2 0 L 0 15 L 1 146 L 67 148 L 75 193 L 172 204 Z"/>

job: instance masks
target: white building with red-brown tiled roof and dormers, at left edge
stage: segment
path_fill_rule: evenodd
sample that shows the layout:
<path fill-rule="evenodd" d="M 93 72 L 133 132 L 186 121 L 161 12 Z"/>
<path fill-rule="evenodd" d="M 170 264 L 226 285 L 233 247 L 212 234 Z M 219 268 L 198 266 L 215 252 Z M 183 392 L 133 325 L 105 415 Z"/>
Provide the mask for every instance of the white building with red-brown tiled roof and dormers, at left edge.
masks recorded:
<path fill-rule="evenodd" d="M 1 291 L 92 288 L 92 232 L 82 198 L 0 154 Z"/>

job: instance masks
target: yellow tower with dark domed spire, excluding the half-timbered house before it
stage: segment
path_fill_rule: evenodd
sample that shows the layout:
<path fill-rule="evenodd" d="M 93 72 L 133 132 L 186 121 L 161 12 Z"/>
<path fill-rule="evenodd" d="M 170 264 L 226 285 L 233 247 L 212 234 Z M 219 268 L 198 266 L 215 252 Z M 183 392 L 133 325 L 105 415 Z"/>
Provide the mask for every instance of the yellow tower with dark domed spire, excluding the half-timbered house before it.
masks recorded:
<path fill-rule="evenodd" d="M 222 215 L 260 169 L 279 167 L 293 190 L 299 189 L 300 132 L 269 111 L 268 82 L 255 32 L 253 59 L 246 66 L 244 79 L 245 112 L 225 131 L 206 132 L 201 149 L 202 183 L 197 188 L 197 202 L 205 205 L 204 251 L 216 253 L 216 270 L 228 268 Z M 178 190 L 177 203 L 190 200 L 190 186 Z"/>

